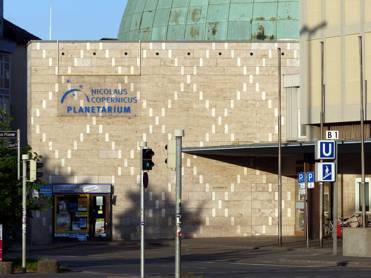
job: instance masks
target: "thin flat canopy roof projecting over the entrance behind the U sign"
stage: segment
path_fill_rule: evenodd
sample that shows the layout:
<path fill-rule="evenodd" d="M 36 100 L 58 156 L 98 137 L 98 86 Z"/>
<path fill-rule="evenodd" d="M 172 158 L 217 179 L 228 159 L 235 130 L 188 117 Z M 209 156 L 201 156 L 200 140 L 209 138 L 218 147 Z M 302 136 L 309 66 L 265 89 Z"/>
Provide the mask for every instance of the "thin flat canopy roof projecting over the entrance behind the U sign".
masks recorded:
<path fill-rule="evenodd" d="M 290 142 L 281 144 L 282 156 L 300 156 L 314 153 L 315 142 Z M 364 140 L 365 153 L 371 153 L 371 138 Z M 254 143 L 212 147 L 184 147 L 182 152 L 200 156 L 278 156 L 278 143 Z M 338 140 L 338 154 L 361 153 L 361 140 Z"/>

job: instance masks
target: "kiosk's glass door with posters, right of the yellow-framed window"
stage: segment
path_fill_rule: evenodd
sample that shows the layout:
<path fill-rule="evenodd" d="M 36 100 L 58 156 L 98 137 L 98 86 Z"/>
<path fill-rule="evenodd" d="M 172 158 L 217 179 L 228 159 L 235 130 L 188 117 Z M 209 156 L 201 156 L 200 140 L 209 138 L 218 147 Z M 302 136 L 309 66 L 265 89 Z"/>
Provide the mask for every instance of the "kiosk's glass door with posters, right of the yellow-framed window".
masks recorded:
<path fill-rule="evenodd" d="M 89 194 L 90 197 L 90 229 L 92 241 L 107 241 L 111 239 L 111 221 L 109 211 L 109 194 Z"/>

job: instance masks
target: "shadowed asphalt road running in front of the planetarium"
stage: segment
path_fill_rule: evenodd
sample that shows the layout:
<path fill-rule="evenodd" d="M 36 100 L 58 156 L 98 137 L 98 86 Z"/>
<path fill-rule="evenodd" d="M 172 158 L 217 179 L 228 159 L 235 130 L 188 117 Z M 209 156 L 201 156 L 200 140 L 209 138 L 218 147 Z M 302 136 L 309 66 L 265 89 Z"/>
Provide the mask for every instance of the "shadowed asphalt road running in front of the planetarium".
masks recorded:
<path fill-rule="evenodd" d="M 146 277 L 174 274 L 173 246 L 146 246 Z M 20 256 L 21 254 L 10 254 Z M 16 274 L 17 277 L 106 278 L 109 275 L 139 276 L 139 245 L 83 245 L 49 251 L 27 252 L 27 257 L 41 256 L 68 265 L 68 274 Z M 304 278 L 371 277 L 371 269 L 279 265 L 280 258 L 310 259 L 323 256 L 315 251 L 244 250 L 234 248 L 182 248 L 181 272 L 216 278 Z M 67 276 L 63 276 L 67 275 Z M 0 276 L 1 277 L 1 276 Z M 5 276 L 4 276 L 5 277 Z M 9 277 L 6 276 L 6 277 Z"/>

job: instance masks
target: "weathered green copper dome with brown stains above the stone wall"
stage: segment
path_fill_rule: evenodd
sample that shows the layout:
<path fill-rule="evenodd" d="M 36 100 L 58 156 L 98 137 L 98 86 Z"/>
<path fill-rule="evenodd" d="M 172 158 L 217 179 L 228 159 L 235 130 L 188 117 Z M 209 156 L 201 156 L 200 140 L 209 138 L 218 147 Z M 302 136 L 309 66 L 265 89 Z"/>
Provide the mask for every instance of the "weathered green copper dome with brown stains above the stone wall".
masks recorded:
<path fill-rule="evenodd" d="M 299 0 L 128 0 L 117 38 L 299 39 Z"/>

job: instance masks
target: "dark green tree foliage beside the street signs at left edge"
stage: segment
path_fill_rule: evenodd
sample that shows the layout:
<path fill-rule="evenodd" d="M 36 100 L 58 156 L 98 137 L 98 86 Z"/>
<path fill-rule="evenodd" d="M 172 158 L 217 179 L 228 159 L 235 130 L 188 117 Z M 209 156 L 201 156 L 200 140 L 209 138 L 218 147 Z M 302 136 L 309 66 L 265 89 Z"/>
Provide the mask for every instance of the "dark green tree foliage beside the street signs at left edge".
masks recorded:
<path fill-rule="evenodd" d="M 0 110 L 0 118 L 7 118 L 6 112 Z M 0 130 L 10 130 L 9 123 L 12 118 L 0 121 Z M 21 151 L 22 155 L 29 155 L 30 159 L 37 161 L 42 158 L 41 155 L 31 152 L 31 146 L 25 146 Z M 0 223 L 3 224 L 3 252 L 7 253 L 9 248 L 22 239 L 22 160 L 20 163 L 20 175 L 18 180 L 18 154 L 17 149 L 8 149 L 7 139 L 0 139 Z M 27 163 L 29 168 L 29 163 Z M 28 169 L 27 169 L 28 170 Z M 43 201 L 51 197 L 40 194 L 40 198 L 29 195 L 31 189 L 38 190 L 40 186 L 45 186 L 42 181 L 27 182 L 27 212 L 28 217 L 32 217 L 32 211 L 46 211 L 47 207 L 52 208 L 51 204 Z"/>

